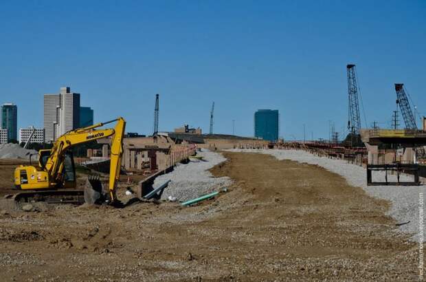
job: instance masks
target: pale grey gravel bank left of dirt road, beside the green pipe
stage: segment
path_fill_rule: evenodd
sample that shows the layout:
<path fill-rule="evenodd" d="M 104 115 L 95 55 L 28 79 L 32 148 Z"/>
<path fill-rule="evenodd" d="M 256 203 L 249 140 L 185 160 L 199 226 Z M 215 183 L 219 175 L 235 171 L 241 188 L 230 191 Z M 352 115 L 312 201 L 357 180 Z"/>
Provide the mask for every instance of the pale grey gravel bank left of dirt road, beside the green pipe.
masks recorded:
<path fill-rule="evenodd" d="M 208 171 L 216 164 L 226 159 L 220 153 L 203 150 L 198 153 L 204 161 L 191 161 L 188 164 L 178 164 L 175 170 L 155 179 L 154 187 L 158 187 L 167 180 L 172 180 L 164 189 L 161 199 L 169 196 L 176 197 L 177 201 L 186 201 L 201 195 L 218 191 L 219 188 L 229 186 L 232 181 L 229 177 L 212 177 Z"/>

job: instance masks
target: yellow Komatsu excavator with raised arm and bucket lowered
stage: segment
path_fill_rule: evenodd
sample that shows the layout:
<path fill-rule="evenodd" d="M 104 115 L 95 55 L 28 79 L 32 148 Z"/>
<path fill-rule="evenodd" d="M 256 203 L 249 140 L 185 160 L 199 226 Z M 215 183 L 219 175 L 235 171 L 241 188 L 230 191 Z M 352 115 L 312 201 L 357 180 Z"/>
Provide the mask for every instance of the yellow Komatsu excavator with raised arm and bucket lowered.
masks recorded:
<path fill-rule="evenodd" d="M 113 129 L 98 129 L 105 124 L 117 122 Z M 38 166 L 18 166 L 14 171 L 14 184 L 25 192 L 12 195 L 16 202 L 41 200 L 45 202 L 84 202 L 88 204 L 116 204 L 115 186 L 120 176 L 122 140 L 126 121 L 117 118 L 100 122 L 90 127 L 74 129 L 61 135 L 52 149 L 38 152 Z M 111 136 L 111 160 L 109 187 L 104 189 L 99 177 L 89 177 L 82 190 L 76 188 L 76 169 L 71 148 L 80 144 Z"/>

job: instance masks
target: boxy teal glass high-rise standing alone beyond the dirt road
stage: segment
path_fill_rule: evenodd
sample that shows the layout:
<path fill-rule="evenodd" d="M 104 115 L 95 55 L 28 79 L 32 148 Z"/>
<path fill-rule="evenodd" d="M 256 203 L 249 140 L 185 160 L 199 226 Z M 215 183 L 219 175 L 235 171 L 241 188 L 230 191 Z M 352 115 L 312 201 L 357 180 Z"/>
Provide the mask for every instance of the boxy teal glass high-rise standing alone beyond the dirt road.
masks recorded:
<path fill-rule="evenodd" d="M 263 140 L 277 141 L 280 131 L 278 110 L 260 109 L 254 113 L 254 136 Z"/>

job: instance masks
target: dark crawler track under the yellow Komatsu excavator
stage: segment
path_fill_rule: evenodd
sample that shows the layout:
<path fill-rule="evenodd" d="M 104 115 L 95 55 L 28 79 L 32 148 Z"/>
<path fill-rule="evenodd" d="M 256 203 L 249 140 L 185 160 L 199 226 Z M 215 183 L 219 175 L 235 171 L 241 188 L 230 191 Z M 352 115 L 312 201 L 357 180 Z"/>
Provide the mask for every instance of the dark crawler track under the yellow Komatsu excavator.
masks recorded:
<path fill-rule="evenodd" d="M 75 189 L 23 191 L 5 195 L 16 203 L 45 202 L 47 204 L 85 204 L 85 191 Z"/>

